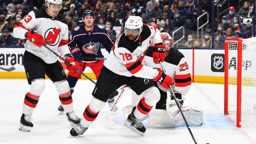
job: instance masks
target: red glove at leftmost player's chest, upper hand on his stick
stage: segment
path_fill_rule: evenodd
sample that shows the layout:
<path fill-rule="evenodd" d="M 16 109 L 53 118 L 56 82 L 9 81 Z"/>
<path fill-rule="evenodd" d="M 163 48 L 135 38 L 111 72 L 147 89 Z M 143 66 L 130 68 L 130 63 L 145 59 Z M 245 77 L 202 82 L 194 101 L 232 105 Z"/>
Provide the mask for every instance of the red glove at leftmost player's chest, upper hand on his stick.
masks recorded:
<path fill-rule="evenodd" d="M 28 38 L 28 40 L 32 41 L 38 47 L 42 47 L 43 44 L 46 44 L 42 35 L 34 33 L 34 31 L 26 32 L 25 37 Z"/>

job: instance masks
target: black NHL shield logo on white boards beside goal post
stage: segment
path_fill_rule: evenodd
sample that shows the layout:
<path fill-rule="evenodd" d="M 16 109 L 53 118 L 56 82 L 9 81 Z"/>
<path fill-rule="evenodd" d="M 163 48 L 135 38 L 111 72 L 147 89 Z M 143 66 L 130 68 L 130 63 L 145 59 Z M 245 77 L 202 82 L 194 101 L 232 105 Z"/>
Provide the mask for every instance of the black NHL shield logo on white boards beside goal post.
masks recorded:
<path fill-rule="evenodd" d="M 224 72 L 224 54 L 212 54 L 212 71 Z"/>

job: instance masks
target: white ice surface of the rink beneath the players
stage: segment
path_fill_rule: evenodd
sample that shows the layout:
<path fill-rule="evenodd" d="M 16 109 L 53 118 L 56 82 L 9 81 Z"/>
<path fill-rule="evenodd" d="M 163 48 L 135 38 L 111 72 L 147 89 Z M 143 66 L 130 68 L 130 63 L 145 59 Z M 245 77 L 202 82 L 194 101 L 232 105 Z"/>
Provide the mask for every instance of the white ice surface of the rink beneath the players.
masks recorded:
<path fill-rule="evenodd" d="M 94 84 L 79 80 L 73 94 L 74 111 L 78 116 L 90 102 Z M 41 95 L 33 113 L 34 127 L 31 132 L 21 132 L 20 116 L 26 92 L 30 86 L 25 79 L 0 79 L 0 143 L 194 143 L 186 127 L 172 129 L 153 129 L 148 127 L 144 137 L 124 126 L 121 108 L 131 103 L 131 92 L 126 90 L 118 103 L 118 114 L 114 115 L 116 124 L 109 127 L 106 114 L 110 111 L 106 104 L 81 137 L 70 136 L 70 124 L 65 114 L 58 114 L 60 105 L 54 84 L 46 80 L 46 89 Z M 119 90 L 120 91 L 120 90 Z M 193 83 L 185 96 L 184 105 L 197 106 L 204 110 L 206 125 L 190 127 L 198 143 L 249 144 L 256 143 L 255 128 L 236 128 L 235 116 L 223 115 L 223 85 Z M 143 121 L 146 123 L 146 121 Z"/>

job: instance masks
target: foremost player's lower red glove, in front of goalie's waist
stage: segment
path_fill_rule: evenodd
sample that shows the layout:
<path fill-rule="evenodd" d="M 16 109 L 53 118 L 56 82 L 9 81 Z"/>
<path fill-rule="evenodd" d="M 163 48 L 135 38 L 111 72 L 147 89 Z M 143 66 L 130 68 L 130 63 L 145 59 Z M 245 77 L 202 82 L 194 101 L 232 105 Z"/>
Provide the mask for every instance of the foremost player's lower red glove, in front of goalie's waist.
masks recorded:
<path fill-rule="evenodd" d="M 174 79 L 164 74 L 162 70 L 158 69 L 158 71 L 159 74 L 156 76 L 156 78 L 153 79 L 153 81 L 158 84 L 159 89 L 166 92 L 168 89 L 170 89 L 169 84 L 174 87 Z"/>

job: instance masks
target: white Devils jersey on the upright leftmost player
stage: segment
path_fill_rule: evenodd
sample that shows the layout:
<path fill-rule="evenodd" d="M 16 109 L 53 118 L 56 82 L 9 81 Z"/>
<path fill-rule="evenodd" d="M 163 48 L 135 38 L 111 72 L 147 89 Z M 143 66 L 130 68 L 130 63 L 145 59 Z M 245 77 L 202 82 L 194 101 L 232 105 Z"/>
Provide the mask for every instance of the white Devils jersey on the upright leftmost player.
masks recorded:
<path fill-rule="evenodd" d="M 54 52 L 65 55 L 70 54 L 68 49 L 68 25 L 62 15 L 52 18 L 47 15 L 46 10 L 33 10 L 20 20 L 18 25 L 14 26 L 15 38 L 25 39 L 27 31 L 34 31 L 44 37 L 47 46 Z M 58 60 L 56 55 L 52 54 L 44 46 L 38 47 L 31 41 L 26 41 L 25 50 L 36 55 L 46 63 L 55 63 Z"/>

